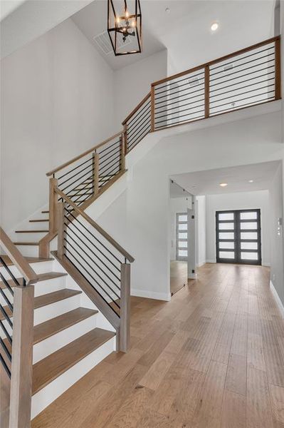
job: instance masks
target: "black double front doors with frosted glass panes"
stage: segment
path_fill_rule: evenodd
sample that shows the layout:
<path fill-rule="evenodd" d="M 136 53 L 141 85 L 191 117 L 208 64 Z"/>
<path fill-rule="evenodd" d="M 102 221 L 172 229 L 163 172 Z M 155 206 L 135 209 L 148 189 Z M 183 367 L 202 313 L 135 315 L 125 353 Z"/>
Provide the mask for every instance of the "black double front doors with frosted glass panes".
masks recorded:
<path fill-rule="evenodd" d="M 261 210 L 216 212 L 216 261 L 261 265 Z"/>

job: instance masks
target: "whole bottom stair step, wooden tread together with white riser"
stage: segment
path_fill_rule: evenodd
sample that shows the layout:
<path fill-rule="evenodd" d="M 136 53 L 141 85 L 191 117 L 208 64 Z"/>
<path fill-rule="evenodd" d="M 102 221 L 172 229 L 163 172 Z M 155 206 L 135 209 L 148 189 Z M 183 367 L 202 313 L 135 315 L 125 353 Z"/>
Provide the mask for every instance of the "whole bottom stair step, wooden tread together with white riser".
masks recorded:
<path fill-rule="evenodd" d="M 95 328 L 33 365 L 32 419 L 113 352 L 114 337 Z"/>

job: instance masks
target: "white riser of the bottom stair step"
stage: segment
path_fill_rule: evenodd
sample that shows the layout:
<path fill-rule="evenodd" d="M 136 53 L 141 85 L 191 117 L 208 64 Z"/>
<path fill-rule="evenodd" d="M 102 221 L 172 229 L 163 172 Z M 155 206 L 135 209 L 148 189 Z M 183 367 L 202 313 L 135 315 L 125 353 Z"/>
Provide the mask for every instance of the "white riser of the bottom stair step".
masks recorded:
<path fill-rule="evenodd" d="M 80 362 L 75 364 L 69 370 L 61 374 L 33 395 L 31 400 L 31 419 L 43 411 L 49 404 L 58 398 L 63 392 L 70 388 L 75 382 L 85 376 L 90 370 L 93 369 L 99 362 L 105 359 L 107 355 L 115 350 L 115 337 L 105 342 L 97 350 L 92 352 L 87 357 L 83 358 Z"/>

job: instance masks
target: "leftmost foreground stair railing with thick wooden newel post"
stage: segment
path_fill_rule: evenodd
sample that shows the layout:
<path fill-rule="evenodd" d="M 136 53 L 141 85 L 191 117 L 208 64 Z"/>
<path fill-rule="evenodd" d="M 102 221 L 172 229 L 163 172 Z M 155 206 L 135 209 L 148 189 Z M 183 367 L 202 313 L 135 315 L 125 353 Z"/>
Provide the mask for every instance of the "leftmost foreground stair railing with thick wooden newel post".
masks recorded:
<path fill-rule="evenodd" d="M 6 253 L 0 256 L 0 365 L 11 379 L 9 424 L 28 427 L 33 370 L 33 283 L 38 276 L 1 227 L 0 245 Z"/>

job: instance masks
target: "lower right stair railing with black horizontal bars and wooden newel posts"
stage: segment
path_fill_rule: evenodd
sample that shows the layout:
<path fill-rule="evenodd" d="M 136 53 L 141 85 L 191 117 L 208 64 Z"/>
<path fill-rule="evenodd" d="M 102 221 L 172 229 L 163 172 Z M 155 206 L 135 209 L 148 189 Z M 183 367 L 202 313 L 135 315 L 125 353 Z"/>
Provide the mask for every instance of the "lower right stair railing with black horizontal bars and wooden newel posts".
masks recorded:
<path fill-rule="evenodd" d="M 115 327 L 121 319 L 127 323 L 127 331 L 120 330 L 124 337 L 129 334 L 125 300 L 130 297 L 130 277 L 127 280 L 125 272 L 130 275 L 134 259 L 58 188 L 56 194 L 63 201 L 58 203 L 58 258 L 68 260 L 88 282 L 100 304 L 112 312 Z"/>

